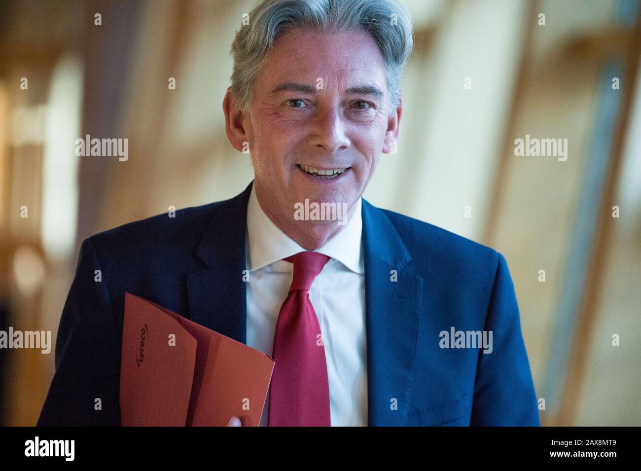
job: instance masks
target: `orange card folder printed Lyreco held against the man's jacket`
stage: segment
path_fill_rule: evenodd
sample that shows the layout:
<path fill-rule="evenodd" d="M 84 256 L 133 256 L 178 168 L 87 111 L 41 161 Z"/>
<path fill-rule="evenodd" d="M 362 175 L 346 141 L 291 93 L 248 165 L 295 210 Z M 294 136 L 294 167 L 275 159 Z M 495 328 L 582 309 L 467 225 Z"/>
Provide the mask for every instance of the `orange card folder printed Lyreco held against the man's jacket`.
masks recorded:
<path fill-rule="evenodd" d="M 122 426 L 258 426 L 269 355 L 125 293 Z"/>

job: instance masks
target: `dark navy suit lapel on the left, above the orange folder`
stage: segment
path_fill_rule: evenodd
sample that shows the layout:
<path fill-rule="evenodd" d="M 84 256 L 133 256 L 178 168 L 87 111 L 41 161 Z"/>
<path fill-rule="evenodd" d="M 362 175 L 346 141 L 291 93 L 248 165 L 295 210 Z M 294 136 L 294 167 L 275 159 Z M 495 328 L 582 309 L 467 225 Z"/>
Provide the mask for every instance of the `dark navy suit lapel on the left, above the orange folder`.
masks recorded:
<path fill-rule="evenodd" d="M 206 268 L 187 275 L 191 320 L 242 343 L 247 343 L 243 270 L 252 183 L 236 197 L 216 203 L 215 216 L 196 251 Z"/>

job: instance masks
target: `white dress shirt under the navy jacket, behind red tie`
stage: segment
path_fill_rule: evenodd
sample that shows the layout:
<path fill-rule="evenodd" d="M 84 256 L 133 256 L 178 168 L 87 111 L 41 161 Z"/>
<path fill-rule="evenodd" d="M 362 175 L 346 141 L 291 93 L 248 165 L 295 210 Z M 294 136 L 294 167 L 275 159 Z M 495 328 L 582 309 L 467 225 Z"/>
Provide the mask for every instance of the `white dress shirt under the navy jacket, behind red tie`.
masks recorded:
<path fill-rule="evenodd" d="M 310 288 L 319 319 L 329 380 L 332 426 L 367 426 L 367 345 L 365 337 L 365 269 L 361 244 L 361 199 L 340 232 L 317 249 L 331 257 Z M 292 212 L 294 208 L 292 208 Z M 290 239 L 263 212 L 255 185 L 247 204 L 245 242 L 247 345 L 272 356 L 280 308 L 294 276 L 283 258 L 305 249 Z M 260 419 L 267 426 L 269 392 Z"/>

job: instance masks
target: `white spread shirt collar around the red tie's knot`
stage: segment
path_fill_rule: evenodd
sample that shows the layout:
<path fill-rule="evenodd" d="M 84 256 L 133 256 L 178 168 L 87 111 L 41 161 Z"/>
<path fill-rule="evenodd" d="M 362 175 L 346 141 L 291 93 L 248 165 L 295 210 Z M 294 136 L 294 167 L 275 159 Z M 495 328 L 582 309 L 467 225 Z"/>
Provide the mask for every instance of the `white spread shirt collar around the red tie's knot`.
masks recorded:
<path fill-rule="evenodd" d="M 245 256 L 250 272 L 271 265 L 305 249 L 289 238 L 272 222 L 260 207 L 256 197 L 256 185 L 252 185 L 247 202 L 247 233 Z M 315 252 L 340 261 L 345 267 L 358 274 L 365 274 L 361 236 L 363 229 L 362 201 L 356 201 L 356 210 L 347 224 L 325 245 Z M 331 263 L 331 261 L 329 261 Z"/>

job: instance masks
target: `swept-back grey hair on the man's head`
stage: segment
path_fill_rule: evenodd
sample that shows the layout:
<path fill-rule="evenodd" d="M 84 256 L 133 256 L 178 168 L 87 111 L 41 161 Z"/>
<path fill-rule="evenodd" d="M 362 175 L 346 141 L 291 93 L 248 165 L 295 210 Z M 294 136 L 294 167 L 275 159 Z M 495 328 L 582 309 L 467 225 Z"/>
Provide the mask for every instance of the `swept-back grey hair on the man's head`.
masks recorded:
<path fill-rule="evenodd" d="M 242 110 L 254 99 L 254 81 L 274 41 L 286 29 L 365 31 L 385 63 L 390 112 L 400 104 L 401 75 L 412 54 L 412 17 L 397 0 L 263 0 L 246 17 L 231 44 L 231 90 Z"/>

